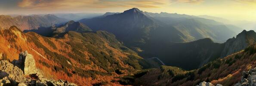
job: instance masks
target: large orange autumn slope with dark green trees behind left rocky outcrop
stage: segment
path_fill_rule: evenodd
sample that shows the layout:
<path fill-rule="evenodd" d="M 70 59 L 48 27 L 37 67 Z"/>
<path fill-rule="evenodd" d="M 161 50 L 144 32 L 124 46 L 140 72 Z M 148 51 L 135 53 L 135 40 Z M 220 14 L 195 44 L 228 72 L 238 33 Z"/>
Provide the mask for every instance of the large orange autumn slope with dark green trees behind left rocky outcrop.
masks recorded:
<path fill-rule="evenodd" d="M 3 59 L 18 59 L 20 52 L 28 50 L 46 76 L 78 85 L 119 85 L 115 77 L 150 68 L 136 52 L 105 31 L 69 31 L 60 38 L 50 38 L 34 32 L 23 33 L 14 26 L 1 30 L 0 38 Z"/>

